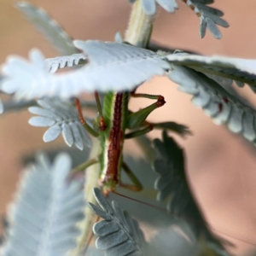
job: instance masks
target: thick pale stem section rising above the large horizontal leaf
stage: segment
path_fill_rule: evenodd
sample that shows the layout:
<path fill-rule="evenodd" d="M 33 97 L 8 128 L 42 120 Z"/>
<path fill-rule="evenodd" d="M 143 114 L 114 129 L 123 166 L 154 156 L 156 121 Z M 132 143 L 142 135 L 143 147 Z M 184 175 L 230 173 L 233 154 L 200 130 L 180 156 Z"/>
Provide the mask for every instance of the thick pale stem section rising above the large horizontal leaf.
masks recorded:
<path fill-rule="evenodd" d="M 153 27 L 154 16 L 145 15 L 142 0 L 133 3 L 131 18 L 125 33 L 125 41 L 145 48 Z"/>

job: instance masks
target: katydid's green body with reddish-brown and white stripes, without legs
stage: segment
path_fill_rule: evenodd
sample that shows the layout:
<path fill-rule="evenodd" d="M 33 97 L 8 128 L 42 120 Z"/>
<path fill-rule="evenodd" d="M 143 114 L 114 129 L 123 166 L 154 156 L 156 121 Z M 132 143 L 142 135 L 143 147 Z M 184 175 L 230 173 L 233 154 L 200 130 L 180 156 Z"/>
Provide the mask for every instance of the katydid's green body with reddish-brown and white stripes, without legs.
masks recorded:
<path fill-rule="evenodd" d="M 106 192 L 113 191 L 120 180 L 129 97 L 128 92 L 109 92 L 104 97 L 102 115 L 106 129 L 99 137 L 102 143 L 100 181 Z"/>

